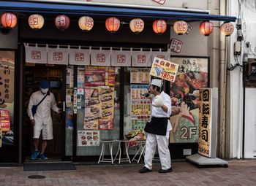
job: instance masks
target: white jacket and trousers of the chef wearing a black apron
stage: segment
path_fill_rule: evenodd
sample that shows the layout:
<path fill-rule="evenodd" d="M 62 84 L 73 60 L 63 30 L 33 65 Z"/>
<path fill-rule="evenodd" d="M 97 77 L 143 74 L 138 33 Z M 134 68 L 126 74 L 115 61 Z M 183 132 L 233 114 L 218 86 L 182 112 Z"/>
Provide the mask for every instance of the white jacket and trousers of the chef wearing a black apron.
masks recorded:
<path fill-rule="evenodd" d="M 168 108 L 167 112 L 165 112 L 161 107 L 151 106 L 151 117 L 170 117 L 170 114 L 171 114 L 170 96 L 164 93 L 163 91 L 162 93 L 160 93 L 160 95 L 164 99 L 164 105 L 167 106 Z M 154 98 L 152 102 L 154 101 Z M 147 133 L 146 152 L 145 152 L 145 159 L 144 159 L 146 168 L 150 170 L 152 169 L 152 160 L 154 158 L 156 147 L 158 147 L 158 153 L 159 153 L 162 169 L 167 170 L 171 167 L 170 151 L 168 148 L 170 130 L 172 130 L 172 126 L 170 125 L 170 120 L 168 120 L 166 136 Z"/>

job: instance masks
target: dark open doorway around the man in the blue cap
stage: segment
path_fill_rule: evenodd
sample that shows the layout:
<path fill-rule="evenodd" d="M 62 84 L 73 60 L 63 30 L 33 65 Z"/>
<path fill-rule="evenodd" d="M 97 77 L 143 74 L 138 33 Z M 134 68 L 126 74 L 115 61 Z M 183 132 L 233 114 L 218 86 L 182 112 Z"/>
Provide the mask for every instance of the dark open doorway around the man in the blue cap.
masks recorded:
<path fill-rule="evenodd" d="M 65 66 L 45 65 L 45 64 L 26 64 L 24 68 L 24 115 L 23 115 L 23 160 L 30 160 L 31 153 L 34 152 L 33 127 L 27 115 L 27 106 L 32 93 L 39 90 L 39 81 L 48 80 L 50 93 L 53 93 L 57 106 L 62 110 L 65 98 Z M 45 153 L 49 160 L 62 160 L 64 157 L 64 136 L 65 136 L 65 112 L 58 114 L 51 111 L 53 120 L 53 140 L 48 141 Z M 39 138 L 39 150 L 42 138 Z"/>

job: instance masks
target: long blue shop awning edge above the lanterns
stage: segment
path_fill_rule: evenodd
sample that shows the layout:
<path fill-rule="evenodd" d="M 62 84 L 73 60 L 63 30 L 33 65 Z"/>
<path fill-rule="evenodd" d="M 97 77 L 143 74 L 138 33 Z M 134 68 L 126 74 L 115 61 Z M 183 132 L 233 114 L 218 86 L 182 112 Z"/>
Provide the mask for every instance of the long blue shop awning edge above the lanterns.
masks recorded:
<path fill-rule="evenodd" d="M 208 13 L 176 12 L 159 9 L 140 9 L 123 7 L 99 7 L 83 4 L 56 4 L 23 1 L 0 1 L 0 11 L 37 12 L 67 15 L 104 15 L 140 18 L 163 18 L 184 20 L 217 20 L 235 22 L 236 17 L 210 15 Z"/>

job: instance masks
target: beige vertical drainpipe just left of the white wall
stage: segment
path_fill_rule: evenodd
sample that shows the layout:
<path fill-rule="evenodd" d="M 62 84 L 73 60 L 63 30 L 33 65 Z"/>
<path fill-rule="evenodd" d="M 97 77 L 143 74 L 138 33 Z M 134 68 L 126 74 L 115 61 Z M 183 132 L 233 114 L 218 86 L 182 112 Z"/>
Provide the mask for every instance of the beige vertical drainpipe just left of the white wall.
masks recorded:
<path fill-rule="evenodd" d="M 226 1 L 220 0 L 220 15 L 226 15 Z M 227 80 L 227 61 L 226 61 L 226 38 L 222 34 L 220 40 L 219 56 L 219 157 L 225 158 L 225 135 L 226 135 L 226 80 Z"/>

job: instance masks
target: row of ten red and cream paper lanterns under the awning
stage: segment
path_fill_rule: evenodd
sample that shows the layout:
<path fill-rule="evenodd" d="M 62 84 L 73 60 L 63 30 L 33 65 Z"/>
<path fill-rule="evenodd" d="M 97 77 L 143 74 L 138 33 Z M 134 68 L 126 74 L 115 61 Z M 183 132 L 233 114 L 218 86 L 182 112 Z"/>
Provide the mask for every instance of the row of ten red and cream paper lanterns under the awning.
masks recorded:
<path fill-rule="evenodd" d="M 4 13 L 1 15 L 1 25 L 4 28 L 14 28 L 17 23 L 17 17 L 15 14 L 10 12 Z M 58 15 L 55 18 L 55 25 L 61 31 L 66 30 L 69 27 L 70 20 L 67 15 Z M 40 29 L 44 25 L 44 18 L 42 15 L 34 14 L 29 16 L 29 26 L 33 29 Z M 78 20 L 78 26 L 83 31 L 90 31 L 91 28 L 94 26 L 94 20 L 89 16 L 82 16 Z M 105 20 L 105 27 L 110 32 L 116 32 L 120 28 L 120 20 L 118 18 L 112 17 L 107 18 Z M 134 18 L 129 22 L 129 28 L 134 33 L 140 33 L 144 29 L 144 21 L 140 18 Z M 155 20 L 152 24 L 152 28 L 155 33 L 163 34 L 166 31 L 167 23 L 165 20 Z M 173 24 L 173 30 L 176 34 L 182 35 L 187 32 L 188 24 L 184 20 L 177 20 Z M 208 36 L 213 31 L 214 26 L 208 20 L 203 21 L 200 23 L 199 30 L 200 33 Z M 225 36 L 230 36 L 233 33 L 234 28 L 232 23 L 223 23 L 220 31 Z"/>

